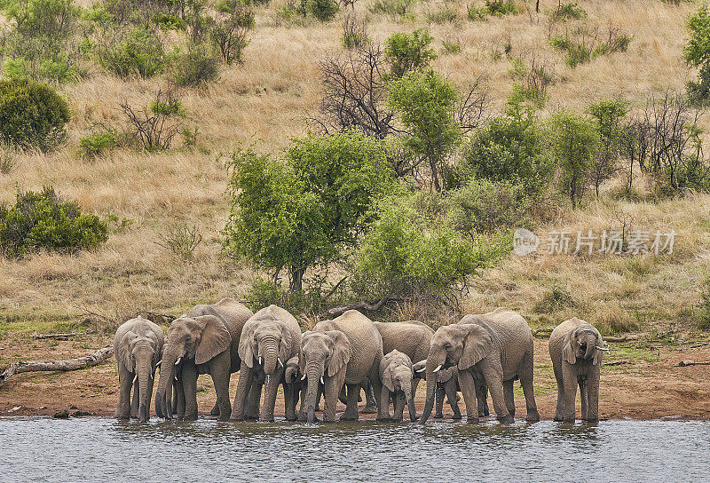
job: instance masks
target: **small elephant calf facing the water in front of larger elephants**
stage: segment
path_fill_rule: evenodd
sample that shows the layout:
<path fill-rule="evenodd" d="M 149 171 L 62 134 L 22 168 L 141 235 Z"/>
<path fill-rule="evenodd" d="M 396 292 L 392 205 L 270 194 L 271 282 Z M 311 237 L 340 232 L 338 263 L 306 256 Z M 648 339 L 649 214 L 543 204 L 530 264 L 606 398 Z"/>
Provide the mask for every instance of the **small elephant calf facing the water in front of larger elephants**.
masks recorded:
<path fill-rule="evenodd" d="M 384 415 L 390 419 L 390 398 L 394 403 L 394 421 L 401 421 L 406 406 L 409 408 L 409 419 L 416 421 L 414 407 L 414 390 L 412 381 L 414 371 L 412 360 L 405 353 L 394 350 L 384 355 L 380 361 L 380 379 L 383 382 L 382 406 Z"/>

